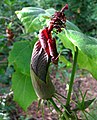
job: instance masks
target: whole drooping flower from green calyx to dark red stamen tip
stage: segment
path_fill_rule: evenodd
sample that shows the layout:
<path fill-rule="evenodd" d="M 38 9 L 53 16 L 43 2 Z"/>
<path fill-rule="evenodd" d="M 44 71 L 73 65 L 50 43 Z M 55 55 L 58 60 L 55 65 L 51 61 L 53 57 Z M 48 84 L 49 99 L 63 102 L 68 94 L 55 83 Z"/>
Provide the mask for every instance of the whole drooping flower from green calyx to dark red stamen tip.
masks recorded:
<path fill-rule="evenodd" d="M 55 12 L 49 26 L 39 31 L 39 40 L 34 45 L 30 71 L 33 87 L 40 99 L 52 98 L 55 93 L 55 88 L 48 73 L 50 62 L 58 63 L 56 41 L 52 38 L 51 31 L 55 28 L 57 32 L 61 32 L 61 28 L 65 27 L 64 10 L 67 7 L 66 5 L 61 11 Z"/>

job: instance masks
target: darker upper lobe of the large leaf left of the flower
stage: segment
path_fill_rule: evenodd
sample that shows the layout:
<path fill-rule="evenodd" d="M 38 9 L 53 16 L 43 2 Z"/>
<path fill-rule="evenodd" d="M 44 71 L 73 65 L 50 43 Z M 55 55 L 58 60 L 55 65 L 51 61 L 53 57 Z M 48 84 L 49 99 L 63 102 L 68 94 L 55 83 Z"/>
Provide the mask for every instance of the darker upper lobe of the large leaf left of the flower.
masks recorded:
<path fill-rule="evenodd" d="M 14 65 L 15 70 L 30 75 L 30 60 L 35 41 L 16 42 L 9 53 L 9 65 Z"/>

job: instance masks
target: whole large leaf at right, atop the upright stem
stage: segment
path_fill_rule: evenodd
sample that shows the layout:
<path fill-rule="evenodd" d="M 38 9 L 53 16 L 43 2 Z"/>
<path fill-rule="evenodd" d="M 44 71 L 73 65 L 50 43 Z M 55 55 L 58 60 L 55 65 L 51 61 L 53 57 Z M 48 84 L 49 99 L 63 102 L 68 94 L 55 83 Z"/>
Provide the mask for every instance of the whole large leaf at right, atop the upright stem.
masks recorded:
<path fill-rule="evenodd" d="M 97 39 L 84 35 L 78 31 L 65 30 L 58 37 L 64 46 L 74 53 L 74 46 L 79 49 L 78 64 L 80 68 L 88 70 L 97 79 Z"/>

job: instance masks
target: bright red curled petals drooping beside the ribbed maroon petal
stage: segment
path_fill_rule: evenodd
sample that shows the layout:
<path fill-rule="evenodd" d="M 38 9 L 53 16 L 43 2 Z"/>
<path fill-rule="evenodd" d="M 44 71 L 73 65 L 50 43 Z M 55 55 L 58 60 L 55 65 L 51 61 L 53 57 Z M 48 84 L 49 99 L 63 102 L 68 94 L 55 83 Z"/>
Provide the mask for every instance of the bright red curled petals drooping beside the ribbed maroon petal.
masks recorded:
<path fill-rule="evenodd" d="M 39 41 L 44 51 L 51 57 L 52 62 L 57 63 L 58 53 L 56 48 L 55 39 L 52 38 L 51 33 L 48 31 L 48 27 L 39 32 Z"/>

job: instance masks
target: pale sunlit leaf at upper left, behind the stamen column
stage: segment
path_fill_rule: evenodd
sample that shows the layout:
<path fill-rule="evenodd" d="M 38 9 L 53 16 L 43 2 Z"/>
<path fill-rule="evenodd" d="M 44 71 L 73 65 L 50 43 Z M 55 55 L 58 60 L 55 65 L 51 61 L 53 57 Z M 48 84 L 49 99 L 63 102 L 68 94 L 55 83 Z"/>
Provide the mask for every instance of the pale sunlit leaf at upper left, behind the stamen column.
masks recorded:
<path fill-rule="evenodd" d="M 29 33 L 39 31 L 43 27 L 46 18 L 50 18 L 54 12 L 55 10 L 53 8 L 44 10 L 36 7 L 25 7 L 15 13 L 23 23 L 26 32 Z"/>

